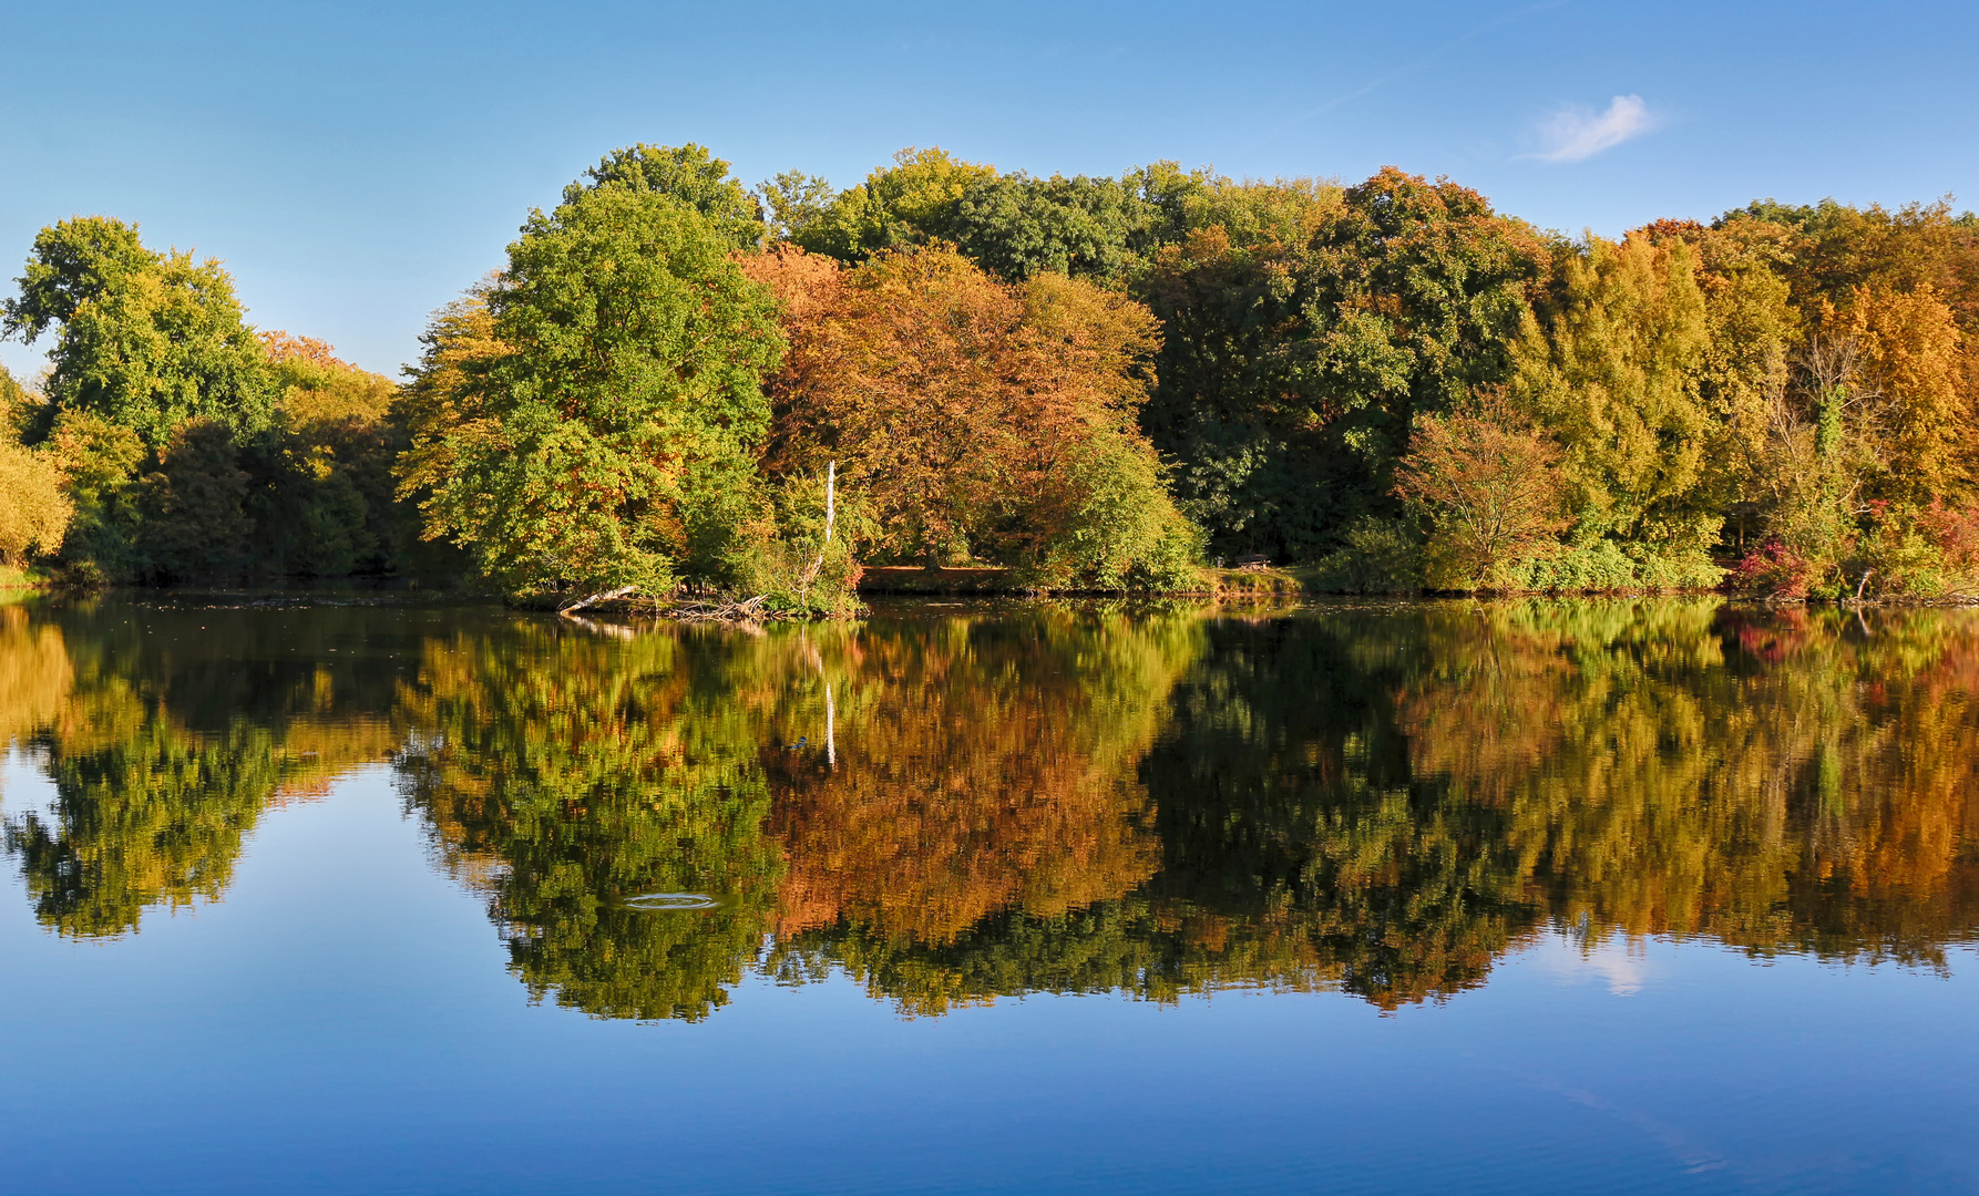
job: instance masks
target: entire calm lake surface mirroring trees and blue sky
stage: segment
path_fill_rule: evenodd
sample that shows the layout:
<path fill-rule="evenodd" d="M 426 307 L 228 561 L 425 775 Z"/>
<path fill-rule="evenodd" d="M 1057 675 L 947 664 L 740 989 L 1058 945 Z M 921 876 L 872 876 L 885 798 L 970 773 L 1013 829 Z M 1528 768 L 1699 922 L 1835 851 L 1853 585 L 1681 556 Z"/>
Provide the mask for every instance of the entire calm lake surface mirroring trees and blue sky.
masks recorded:
<path fill-rule="evenodd" d="M 0 607 L 4 1192 L 1973 1192 L 1979 617 Z"/>

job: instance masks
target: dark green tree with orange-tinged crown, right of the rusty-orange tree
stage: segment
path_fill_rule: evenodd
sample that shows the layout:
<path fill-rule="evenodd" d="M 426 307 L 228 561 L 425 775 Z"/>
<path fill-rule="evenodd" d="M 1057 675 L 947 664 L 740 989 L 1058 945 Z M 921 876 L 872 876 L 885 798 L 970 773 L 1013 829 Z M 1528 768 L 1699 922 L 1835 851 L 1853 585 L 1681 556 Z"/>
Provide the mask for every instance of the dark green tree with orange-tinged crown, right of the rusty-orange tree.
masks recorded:
<path fill-rule="evenodd" d="M 1387 168 L 1183 198 L 1247 206 L 1162 249 L 1138 293 L 1164 322 L 1142 415 L 1223 552 L 1310 557 L 1393 508 L 1417 413 L 1502 384 L 1550 243 L 1476 192 Z"/>

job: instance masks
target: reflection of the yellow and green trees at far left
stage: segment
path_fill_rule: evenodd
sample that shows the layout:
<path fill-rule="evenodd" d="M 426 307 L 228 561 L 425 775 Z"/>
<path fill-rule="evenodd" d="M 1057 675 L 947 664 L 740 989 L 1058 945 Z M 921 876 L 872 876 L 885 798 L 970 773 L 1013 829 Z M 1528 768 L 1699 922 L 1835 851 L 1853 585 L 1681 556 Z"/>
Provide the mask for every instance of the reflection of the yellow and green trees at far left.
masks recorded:
<path fill-rule="evenodd" d="M 188 635 L 192 623 L 224 635 Z M 46 755 L 55 807 L 8 822 L 44 925 L 117 935 L 146 907 L 218 899 L 245 834 L 271 801 L 305 795 L 396 735 L 378 718 L 340 712 L 327 668 L 247 670 L 285 633 L 267 619 L 150 613 L 150 641 L 127 619 L 8 613 L 0 678 L 32 684 L 0 696 L 0 724 Z M 174 642 L 170 658 L 150 642 Z M 241 676 L 259 676 L 243 698 Z M 344 682 L 350 678 L 344 676 Z M 232 714 L 218 726 L 188 712 Z"/>

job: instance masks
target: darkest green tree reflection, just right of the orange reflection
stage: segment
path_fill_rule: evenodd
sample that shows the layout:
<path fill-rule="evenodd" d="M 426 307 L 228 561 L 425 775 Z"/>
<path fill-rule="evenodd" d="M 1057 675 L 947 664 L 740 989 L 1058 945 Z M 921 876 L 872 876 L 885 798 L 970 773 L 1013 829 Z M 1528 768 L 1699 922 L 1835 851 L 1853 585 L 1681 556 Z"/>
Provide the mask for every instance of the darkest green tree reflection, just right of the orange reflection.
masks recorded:
<path fill-rule="evenodd" d="M 1407 642 L 1393 621 L 1367 631 Z M 1502 814 L 1411 773 L 1354 637 L 1284 619 L 1215 623 L 1211 639 L 1142 765 L 1166 848 L 1154 892 L 1379 1004 L 1478 982 L 1538 919 Z M 1282 967 L 1259 963 L 1259 981 Z"/>

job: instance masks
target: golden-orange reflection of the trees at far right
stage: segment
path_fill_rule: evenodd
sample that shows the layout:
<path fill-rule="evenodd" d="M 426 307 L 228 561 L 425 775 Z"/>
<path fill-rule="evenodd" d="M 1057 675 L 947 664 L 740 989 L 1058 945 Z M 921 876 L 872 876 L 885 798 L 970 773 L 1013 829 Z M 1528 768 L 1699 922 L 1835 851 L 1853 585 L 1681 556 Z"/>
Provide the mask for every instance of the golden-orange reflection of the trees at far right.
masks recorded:
<path fill-rule="evenodd" d="M 1941 963 L 1979 925 L 1959 611 L 1510 605 L 1427 621 L 1411 765 L 1498 811 L 1555 917 Z"/>

